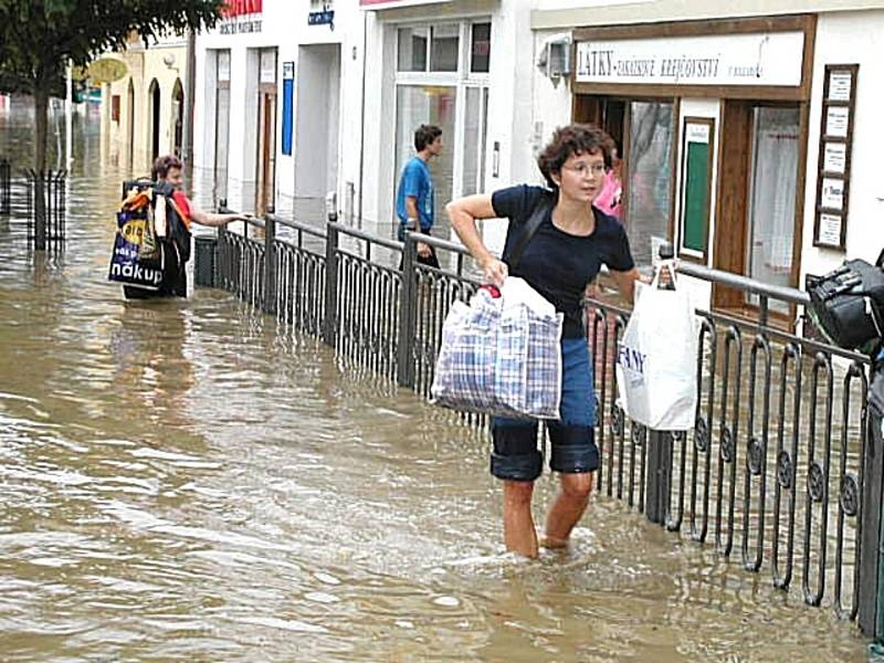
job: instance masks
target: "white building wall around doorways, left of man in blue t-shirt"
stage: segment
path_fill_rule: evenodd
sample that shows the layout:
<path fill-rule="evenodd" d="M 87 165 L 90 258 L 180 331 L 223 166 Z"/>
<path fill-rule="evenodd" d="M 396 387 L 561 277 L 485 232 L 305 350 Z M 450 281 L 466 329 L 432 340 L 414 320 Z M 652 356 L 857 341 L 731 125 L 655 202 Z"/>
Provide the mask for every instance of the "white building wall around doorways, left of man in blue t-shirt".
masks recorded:
<path fill-rule="evenodd" d="M 276 201 L 285 211 L 292 208 L 295 197 L 295 162 L 299 149 L 334 148 L 328 155 L 327 168 L 337 179 L 338 199 L 343 200 L 346 181 L 358 181 L 359 123 L 354 123 L 354 114 L 361 107 L 362 71 L 362 21 L 364 14 L 358 0 L 338 0 L 334 3 L 334 30 L 327 24 L 309 25 L 307 17 L 309 2 L 291 0 L 264 0 L 261 14 L 235 17 L 224 21 L 261 21 L 261 31 L 251 33 L 222 34 L 219 28 L 200 34 L 197 39 L 197 77 L 194 107 L 194 178 L 202 180 L 202 187 L 211 187 L 214 166 L 214 113 L 215 72 L 214 52 L 229 49 L 230 71 L 230 146 L 228 170 L 228 203 L 232 209 L 251 210 L 254 206 L 255 177 L 257 168 L 257 88 L 259 50 L 277 49 L 276 67 Z M 298 48 L 304 44 L 340 44 L 340 71 L 337 102 L 325 107 L 325 113 L 337 116 L 340 129 L 339 139 L 327 140 L 322 146 L 299 146 L 298 127 Z M 293 62 L 295 85 L 293 99 L 293 154 L 282 154 L 283 129 L 283 63 Z M 333 97 L 334 98 L 334 95 Z M 354 126 L 355 125 L 355 126 Z M 347 159 L 339 145 L 348 145 Z M 352 165 L 356 161 L 356 166 Z"/>

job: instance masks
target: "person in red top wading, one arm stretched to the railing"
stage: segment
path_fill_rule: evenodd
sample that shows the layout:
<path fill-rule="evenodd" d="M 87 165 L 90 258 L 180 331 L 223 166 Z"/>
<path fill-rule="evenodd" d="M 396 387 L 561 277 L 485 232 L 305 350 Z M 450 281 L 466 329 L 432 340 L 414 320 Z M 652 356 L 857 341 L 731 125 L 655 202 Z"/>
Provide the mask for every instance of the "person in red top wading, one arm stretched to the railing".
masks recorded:
<path fill-rule="evenodd" d="M 123 292 L 128 299 L 147 299 L 154 297 L 187 297 L 187 261 L 190 259 L 190 224 L 199 223 L 217 228 L 231 221 L 245 221 L 246 214 L 217 214 L 206 212 L 197 207 L 181 191 L 183 178 L 181 160 L 167 155 L 154 161 L 150 179 L 155 182 L 155 192 L 164 198 L 165 209 L 160 215 L 165 225 L 165 264 L 162 282 L 159 290 L 149 291 L 124 285 Z M 155 222 L 158 218 L 155 209 Z"/>

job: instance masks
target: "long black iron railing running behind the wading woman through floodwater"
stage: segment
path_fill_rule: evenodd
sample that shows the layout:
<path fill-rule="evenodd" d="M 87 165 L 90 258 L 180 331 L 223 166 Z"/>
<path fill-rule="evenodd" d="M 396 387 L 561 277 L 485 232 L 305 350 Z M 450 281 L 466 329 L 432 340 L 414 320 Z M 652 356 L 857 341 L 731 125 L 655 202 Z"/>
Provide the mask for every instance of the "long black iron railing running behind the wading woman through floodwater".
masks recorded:
<path fill-rule="evenodd" d="M 218 285 L 428 396 L 444 317 L 480 282 L 460 244 L 420 240 L 453 256 L 453 267 L 419 264 L 415 235 L 402 244 L 267 214 L 219 232 Z M 696 424 L 671 433 L 623 415 L 614 360 L 630 312 L 588 302 L 597 490 L 737 557 L 777 588 L 800 582 L 807 603 L 876 634 L 884 449 L 867 434 L 867 358 L 770 324 L 768 302 L 801 306 L 800 291 L 694 265 L 682 273 L 755 295 L 758 318 L 697 311 Z"/>

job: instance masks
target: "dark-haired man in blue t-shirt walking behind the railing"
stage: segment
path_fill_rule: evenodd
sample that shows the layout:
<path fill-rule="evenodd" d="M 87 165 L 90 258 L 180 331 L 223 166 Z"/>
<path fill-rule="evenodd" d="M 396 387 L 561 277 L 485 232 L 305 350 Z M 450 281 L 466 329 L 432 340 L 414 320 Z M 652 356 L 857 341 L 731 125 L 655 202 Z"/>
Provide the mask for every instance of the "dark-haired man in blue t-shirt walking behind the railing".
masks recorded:
<path fill-rule="evenodd" d="M 430 234 L 435 219 L 433 178 L 427 164 L 442 154 L 442 129 L 435 125 L 421 125 L 414 131 L 414 149 L 402 168 L 396 192 L 396 215 L 399 217 L 398 238 L 406 240 L 406 229 Z M 418 262 L 439 267 L 435 251 L 425 242 L 418 242 Z"/>

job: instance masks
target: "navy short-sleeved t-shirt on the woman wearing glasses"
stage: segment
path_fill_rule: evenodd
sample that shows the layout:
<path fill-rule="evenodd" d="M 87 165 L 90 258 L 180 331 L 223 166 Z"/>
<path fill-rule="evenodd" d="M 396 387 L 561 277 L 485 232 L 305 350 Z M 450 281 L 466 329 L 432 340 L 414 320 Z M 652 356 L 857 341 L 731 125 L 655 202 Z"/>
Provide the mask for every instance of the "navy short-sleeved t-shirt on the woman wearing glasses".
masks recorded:
<path fill-rule="evenodd" d="M 504 246 L 504 262 L 522 236 L 525 223 L 541 197 L 550 193 L 540 187 L 520 185 L 501 189 L 492 194 L 494 213 L 509 219 Z M 587 285 L 596 277 L 601 265 L 615 272 L 628 272 L 634 266 L 629 250 L 627 232 L 620 221 L 592 208 L 596 229 L 580 236 L 559 230 L 552 224 L 551 207 L 534 236 L 528 241 L 513 276 L 520 276 L 555 307 L 565 314 L 565 338 L 585 335 L 581 323 L 580 299 Z"/>

